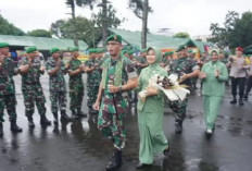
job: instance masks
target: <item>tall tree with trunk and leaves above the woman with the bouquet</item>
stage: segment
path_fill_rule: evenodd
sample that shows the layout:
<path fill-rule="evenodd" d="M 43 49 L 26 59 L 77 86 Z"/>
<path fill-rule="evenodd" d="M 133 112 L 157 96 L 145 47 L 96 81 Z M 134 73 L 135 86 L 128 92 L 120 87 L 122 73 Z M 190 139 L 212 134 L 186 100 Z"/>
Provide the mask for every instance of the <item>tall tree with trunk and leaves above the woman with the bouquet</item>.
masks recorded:
<path fill-rule="evenodd" d="M 149 7 L 149 0 L 128 0 L 128 2 L 135 15 L 142 21 L 141 48 L 143 49 L 147 47 L 148 14 L 153 11 Z"/>

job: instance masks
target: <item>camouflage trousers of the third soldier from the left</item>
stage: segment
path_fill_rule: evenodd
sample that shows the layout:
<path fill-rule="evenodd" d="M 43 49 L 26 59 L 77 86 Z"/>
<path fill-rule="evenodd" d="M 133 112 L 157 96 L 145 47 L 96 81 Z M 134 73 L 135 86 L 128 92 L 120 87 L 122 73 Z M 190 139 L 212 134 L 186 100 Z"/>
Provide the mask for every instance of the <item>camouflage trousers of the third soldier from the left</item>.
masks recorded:
<path fill-rule="evenodd" d="M 60 111 L 65 111 L 66 109 L 66 91 L 50 91 L 50 100 L 51 100 L 51 112 L 58 113 L 58 109 Z"/>

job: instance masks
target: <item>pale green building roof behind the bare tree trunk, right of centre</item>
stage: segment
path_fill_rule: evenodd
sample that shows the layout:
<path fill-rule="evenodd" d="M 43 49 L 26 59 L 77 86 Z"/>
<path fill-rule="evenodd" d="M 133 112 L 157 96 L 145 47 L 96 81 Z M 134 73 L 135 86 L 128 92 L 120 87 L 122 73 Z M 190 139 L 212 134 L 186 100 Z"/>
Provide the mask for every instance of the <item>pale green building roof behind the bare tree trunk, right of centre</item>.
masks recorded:
<path fill-rule="evenodd" d="M 131 32 L 125 29 L 109 28 L 113 34 L 118 34 L 123 37 L 123 41 L 138 47 L 141 47 L 141 32 Z M 162 35 L 147 34 L 147 47 L 154 47 L 159 49 L 177 49 L 180 45 L 189 47 L 198 47 L 200 51 L 204 51 L 204 42 L 194 41 L 190 38 L 176 38 Z"/>

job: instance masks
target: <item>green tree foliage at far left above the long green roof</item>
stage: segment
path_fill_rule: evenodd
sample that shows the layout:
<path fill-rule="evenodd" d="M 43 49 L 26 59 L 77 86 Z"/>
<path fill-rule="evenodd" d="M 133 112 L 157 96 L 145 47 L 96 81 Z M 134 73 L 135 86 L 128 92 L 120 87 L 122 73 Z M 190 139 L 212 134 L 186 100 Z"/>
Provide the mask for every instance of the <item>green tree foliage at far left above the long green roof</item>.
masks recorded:
<path fill-rule="evenodd" d="M 24 36 L 25 33 L 22 29 L 15 27 L 13 24 L 9 23 L 0 14 L 0 35 Z"/>

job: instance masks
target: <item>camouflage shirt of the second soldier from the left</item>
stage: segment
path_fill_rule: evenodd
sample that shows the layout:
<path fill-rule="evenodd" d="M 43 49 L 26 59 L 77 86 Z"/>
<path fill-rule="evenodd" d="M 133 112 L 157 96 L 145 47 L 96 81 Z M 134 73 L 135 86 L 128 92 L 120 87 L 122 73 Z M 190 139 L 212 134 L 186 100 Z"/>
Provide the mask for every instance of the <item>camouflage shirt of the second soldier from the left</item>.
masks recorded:
<path fill-rule="evenodd" d="M 22 65 L 28 64 L 28 60 L 27 59 L 21 60 L 18 62 L 18 65 L 21 64 Z M 32 62 L 32 65 L 29 66 L 28 72 L 22 75 L 22 89 L 23 90 L 27 89 L 27 85 L 28 86 L 37 86 L 37 85 L 41 86 L 39 78 L 40 78 L 40 75 L 43 74 L 43 72 L 39 70 L 40 66 L 41 66 L 40 60 L 34 59 L 34 61 Z"/>

